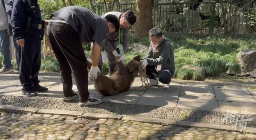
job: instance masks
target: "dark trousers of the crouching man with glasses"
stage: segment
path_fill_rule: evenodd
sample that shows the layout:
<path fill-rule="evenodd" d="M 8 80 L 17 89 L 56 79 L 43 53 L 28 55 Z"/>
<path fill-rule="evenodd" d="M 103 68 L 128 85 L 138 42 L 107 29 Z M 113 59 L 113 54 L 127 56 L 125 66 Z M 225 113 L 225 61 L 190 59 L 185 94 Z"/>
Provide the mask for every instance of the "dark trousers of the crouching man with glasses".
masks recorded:
<path fill-rule="evenodd" d="M 159 81 L 163 84 L 169 84 L 171 82 L 171 77 L 173 77 L 172 73 L 169 73 L 165 70 L 161 70 L 160 72 L 156 70 L 156 66 L 146 66 L 146 74 L 149 79 L 156 79 L 154 74 L 158 75 Z"/>

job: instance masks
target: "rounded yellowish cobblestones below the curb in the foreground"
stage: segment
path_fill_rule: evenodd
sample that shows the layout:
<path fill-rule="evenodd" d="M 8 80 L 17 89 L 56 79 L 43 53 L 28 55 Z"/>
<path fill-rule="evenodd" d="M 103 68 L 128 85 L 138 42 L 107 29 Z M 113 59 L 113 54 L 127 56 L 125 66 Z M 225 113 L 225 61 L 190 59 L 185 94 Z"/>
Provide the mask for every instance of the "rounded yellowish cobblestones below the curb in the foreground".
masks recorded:
<path fill-rule="evenodd" d="M 254 134 L 128 120 L 95 121 L 48 114 L 1 114 L 0 139 L 4 140 L 256 140 Z"/>

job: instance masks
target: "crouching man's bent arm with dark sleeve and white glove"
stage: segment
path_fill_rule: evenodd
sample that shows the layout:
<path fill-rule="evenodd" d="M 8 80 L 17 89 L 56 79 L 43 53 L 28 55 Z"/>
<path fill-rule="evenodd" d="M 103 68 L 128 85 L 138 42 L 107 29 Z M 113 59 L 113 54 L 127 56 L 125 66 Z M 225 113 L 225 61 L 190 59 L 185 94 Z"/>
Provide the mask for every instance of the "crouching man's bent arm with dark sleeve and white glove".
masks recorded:
<path fill-rule="evenodd" d="M 156 58 L 147 58 L 148 65 L 157 66 L 162 64 L 163 62 L 167 62 L 169 58 L 171 58 L 171 52 L 170 52 L 171 43 L 169 41 L 166 41 L 163 44 L 163 48 L 161 50 L 161 55 Z"/>

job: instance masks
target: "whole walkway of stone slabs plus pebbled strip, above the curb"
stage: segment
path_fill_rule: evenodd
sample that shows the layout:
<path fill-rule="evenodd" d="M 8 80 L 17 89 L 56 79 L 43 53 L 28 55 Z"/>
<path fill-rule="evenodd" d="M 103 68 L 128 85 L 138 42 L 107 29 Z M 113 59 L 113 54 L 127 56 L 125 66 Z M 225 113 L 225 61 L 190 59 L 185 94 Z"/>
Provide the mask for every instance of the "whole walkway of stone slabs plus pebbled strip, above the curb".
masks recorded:
<path fill-rule="evenodd" d="M 39 76 L 41 85 L 48 87 L 47 92 L 38 97 L 26 97 L 21 94 L 21 86 L 17 74 L 0 75 L 0 110 L 1 105 L 15 107 L 32 107 L 78 111 L 101 114 L 117 114 L 159 118 L 182 121 L 233 125 L 223 122 L 227 111 L 233 111 L 236 119 L 250 118 L 247 127 L 256 127 L 256 90 L 251 83 L 214 83 L 206 82 L 173 82 L 170 90 L 150 87 L 146 91 L 136 90 L 141 81 L 135 79 L 131 89 L 115 96 L 102 96 L 89 86 L 89 92 L 97 98 L 102 98 L 100 105 L 79 107 L 78 99 L 63 102 L 63 85 L 59 76 Z M 175 81 L 175 80 L 174 80 Z M 191 84 L 184 84 L 184 83 Z M 240 84 L 240 85 L 239 85 Z M 254 87 L 253 87 L 254 86 Z M 73 83 L 73 90 L 77 92 Z M 233 113 L 234 114 L 234 113 Z M 243 114 L 243 115 L 242 115 Z M 229 120 L 232 116 L 229 116 Z M 234 118 L 234 117 L 233 117 Z M 230 126 L 228 126 L 230 127 Z M 254 130 L 256 132 L 256 129 Z"/>

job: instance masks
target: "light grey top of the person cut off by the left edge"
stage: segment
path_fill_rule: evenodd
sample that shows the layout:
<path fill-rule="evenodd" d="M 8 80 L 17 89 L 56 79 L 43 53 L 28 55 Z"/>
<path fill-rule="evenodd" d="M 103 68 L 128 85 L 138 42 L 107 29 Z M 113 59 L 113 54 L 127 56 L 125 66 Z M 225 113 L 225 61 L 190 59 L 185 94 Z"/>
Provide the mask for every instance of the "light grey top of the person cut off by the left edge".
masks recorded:
<path fill-rule="evenodd" d="M 4 2 L 6 3 L 7 0 L 4 0 Z M 4 8 L 1 0 L 0 1 L 0 31 L 8 28 L 9 21 L 10 19 L 6 13 L 6 9 Z"/>

